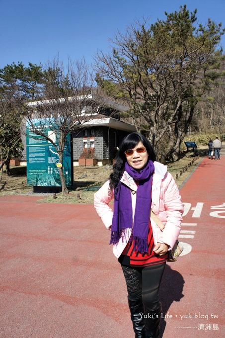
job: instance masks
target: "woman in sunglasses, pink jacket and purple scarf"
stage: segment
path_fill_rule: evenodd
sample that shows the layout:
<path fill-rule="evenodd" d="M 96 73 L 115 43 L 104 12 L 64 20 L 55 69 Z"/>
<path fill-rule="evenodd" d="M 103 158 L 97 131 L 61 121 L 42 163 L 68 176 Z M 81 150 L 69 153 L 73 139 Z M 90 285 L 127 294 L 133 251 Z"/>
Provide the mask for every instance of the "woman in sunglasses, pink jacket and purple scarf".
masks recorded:
<path fill-rule="evenodd" d="M 108 206 L 114 198 L 114 211 Z M 158 290 L 167 259 L 180 233 L 183 204 L 166 166 L 155 162 L 150 142 L 139 133 L 125 137 L 109 180 L 95 193 L 94 206 L 125 276 L 136 338 L 158 337 Z M 150 219 L 150 209 L 165 224 Z"/>

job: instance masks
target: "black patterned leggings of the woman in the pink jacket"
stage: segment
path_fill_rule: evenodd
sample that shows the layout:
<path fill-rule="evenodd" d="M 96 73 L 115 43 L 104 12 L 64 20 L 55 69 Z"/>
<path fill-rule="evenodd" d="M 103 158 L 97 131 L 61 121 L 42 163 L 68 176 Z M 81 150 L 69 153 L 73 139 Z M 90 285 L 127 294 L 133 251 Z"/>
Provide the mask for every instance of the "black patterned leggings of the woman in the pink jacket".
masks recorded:
<path fill-rule="evenodd" d="M 127 284 L 128 299 L 142 301 L 151 311 L 159 308 L 158 291 L 166 263 L 146 267 L 121 265 Z"/>

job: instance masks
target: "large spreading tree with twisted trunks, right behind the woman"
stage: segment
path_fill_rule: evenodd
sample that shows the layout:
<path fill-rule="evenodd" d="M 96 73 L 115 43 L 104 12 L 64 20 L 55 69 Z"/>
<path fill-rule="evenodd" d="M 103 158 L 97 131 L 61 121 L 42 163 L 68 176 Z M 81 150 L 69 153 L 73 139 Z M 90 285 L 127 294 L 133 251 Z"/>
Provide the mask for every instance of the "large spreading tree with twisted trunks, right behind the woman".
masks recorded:
<path fill-rule="evenodd" d="M 184 5 L 165 13 L 165 21 L 138 22 L 117 34 L 111 53 L 96 57 L 102 83 L 111 81 L 124 92 L 133 120 L 161 161 L 179 155 L 224 32 L 210 19 L 196 25 L 196 12 Z"/>

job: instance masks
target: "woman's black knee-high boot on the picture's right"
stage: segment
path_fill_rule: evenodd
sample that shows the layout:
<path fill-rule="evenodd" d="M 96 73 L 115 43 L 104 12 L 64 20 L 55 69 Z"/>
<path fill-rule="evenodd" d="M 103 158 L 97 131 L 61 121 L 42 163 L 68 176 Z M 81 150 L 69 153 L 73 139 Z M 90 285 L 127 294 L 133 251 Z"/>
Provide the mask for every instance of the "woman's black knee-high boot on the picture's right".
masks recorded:
<path fill-rule="evenodd" d="M 145 307 L 145 332 L 146 338 L 158 338 L 159 324 L 161 319 L 161 303 L 156 310 Z"/>

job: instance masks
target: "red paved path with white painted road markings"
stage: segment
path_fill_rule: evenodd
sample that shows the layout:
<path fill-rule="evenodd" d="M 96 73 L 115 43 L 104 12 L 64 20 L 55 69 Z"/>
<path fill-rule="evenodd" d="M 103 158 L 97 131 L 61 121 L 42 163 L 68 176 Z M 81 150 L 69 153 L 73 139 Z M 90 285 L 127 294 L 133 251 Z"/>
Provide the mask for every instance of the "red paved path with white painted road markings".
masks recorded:
<path fill-rule="evenodd" d="M 192 250 L 163 276 L 164 338 L 224 337 L 225 218 L 210 216 L 225 202 L 224 168 L 225 157 L 204 159 L 181 188 L 191 203 L 183 223 L 197 225 L 182 227 L 195 231 L 180 239 Z M 124 277 L 93 206 L 38 199 L 0 197 L 0 338 L 133 338 Z"/>

